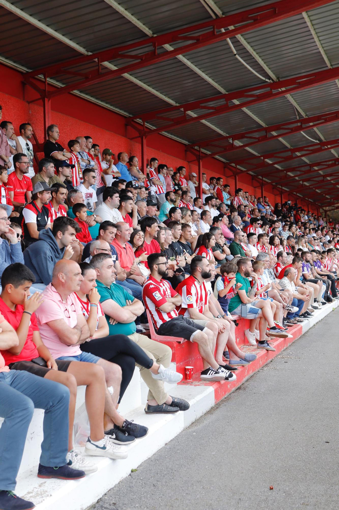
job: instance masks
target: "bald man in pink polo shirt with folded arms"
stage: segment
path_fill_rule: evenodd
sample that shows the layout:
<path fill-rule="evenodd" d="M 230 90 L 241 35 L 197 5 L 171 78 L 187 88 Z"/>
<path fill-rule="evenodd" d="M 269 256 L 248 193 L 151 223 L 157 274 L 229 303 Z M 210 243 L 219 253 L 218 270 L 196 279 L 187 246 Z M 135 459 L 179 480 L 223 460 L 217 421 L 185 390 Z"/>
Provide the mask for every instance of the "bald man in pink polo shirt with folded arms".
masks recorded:
<path fill-rule="evenodd" d="M 121 368 L 89 352 L 79 344 L 90 338 L 90 330 L 74 292 L 80 289 L 83 277 L 79 264 L 62 259 L 54 266 L 52 282 L 42 292 L 44 302 L 36 312 L 40 335 L 54 360 L 83 361 L 96 364 L 105 373 L 104 430 L 122 427 L 123 418 L 116 409 L 121 383 Z M 92 367 L 89 365 L 89 370 Z M 82 384 L 82 383 L 80 383 Z M 107 388 L 113 388 L 111 395 Z"/>

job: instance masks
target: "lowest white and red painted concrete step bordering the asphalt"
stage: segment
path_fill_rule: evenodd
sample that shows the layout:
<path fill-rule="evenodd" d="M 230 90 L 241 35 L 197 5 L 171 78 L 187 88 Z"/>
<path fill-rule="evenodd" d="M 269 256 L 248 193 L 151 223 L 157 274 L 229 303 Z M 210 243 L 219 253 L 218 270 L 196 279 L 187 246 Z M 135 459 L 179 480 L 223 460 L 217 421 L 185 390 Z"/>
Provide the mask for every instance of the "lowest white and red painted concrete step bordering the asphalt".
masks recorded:
<path fill-rule="evenodd" d="M 288 347 L 289 344 L 299 338 L 337 306 L 338 303 L 336 301 L 327 304 L 321 310 L 316 311 L 314 317 L 304 321 L 301 325 L 289 328 L 293 338 L 273 340 L 275 352 L 260 351 L 255 347 L 244 345 L 244 349 L 255 351 L 258 354 L 258 358 L 255 362 L 247 365 L 247 367 L 241 367 L 237 372 L 237 379 L 234 382 L 202 382 L 195 377 L 193 381 L 183 380 L 181 384 L 172 386 L 170 390 L 171 395 L 184 398 L 190 403 L 190 409 L 186 412 L 179 412 L 170 416 L 146 415 L 144 413 L 145 398 L 143 398 L 143 405 L 140 404 L 135 409 L 127 412 L 126 417 L 148 426 L 149 433 L 145 438 L 138 439 L 135 443 L 126 447 L 128 451 L 128 458 L 126 460 L 112 461 L 101 457 L 92 457 L 98 465 L 98 471 L 81 480 L 71 482 L 39 479 L 36 477 L 37 464 L 27 467 L 23 463 L 18 476 L 16 493 L 21 497 L 34 501 L 38 510 L 60 510 L 63 507 L 71 508 L 72 510 L 84 510 L 97 501 L 111 487 L 115 486 L 122 478 L 128 476 L 131 469 L 137 469 L 142 462 L 168 441 L 171 441 L 181 430 L 205 414 L 215 403 L 238 388 L 242 382 L 253 373 L 256 373 L 266 363 L 269 363 L 281 350 Z M 185 343 L 189 344 L 188 342 Z M 133 379 L 134 377 L 137 380 L 135 374 Z M 132 392 L 133 388 L 135 391 L 136 380 L 131 386 Z M 142 385 L 139 387 L 140 395 L 141 387 Z M 34 418 L 36 424 L 39 419 L 42 423 L 42 413 L 38 411 L 37 415 L 38 413 L 40 413 L 40 416 L 37 416 L 37 419 Z M 35 455 L 39 456 L 40 446 L 35 447 L 37 449 Z"/>

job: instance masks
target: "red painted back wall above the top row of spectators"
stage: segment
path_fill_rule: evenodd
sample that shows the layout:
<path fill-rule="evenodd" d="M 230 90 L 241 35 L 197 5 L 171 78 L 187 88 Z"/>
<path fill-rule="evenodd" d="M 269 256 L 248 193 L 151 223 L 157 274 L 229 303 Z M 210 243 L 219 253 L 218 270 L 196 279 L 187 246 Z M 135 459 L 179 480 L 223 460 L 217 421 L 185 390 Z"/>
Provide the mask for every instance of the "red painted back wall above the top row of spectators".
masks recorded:
<path fill-rule="evenodd" d="M 28 86 L 23 86 L 20 72 L 0 64 L 0 105 L 3 107 L 3 120 L 11 120 L 14 124 L 15 133 L 18 135 L 18 127 L 22 122 L 30 122 L 40 143 L 44 141 L 43 110 L 41 101 L 30 103 L 37 98 L 37 92 Z M 39 83 L 41 87 L 42 83 Z M 135 155 L 141 160 L 141 146 L 138 139 L 131 140 L 136 132 L 125 124 L 125 118 L 110 110 L 95 105 L 90 101 L 81 99 L 72 94 L 55 97 L 51 101 L 51 122 L 59 125 L 60 143 L 67 147 L 68 140 L 76 136 L 90 135 L 95 143 L 99 143 L 100 149 L 110 148 L 116 155 L 120 151 L 126 151 L 128 155 Z M 189 128 L 188 128 L 189 129 Z M 147 159 L 157 157 L 159 163 L 166 163 L 173 168 L 184 165 L 189 171 L 197 173 L 196 162 L 191 162 L 193 156 L 185 151 L 185 145 L 176 142 L 163 135 L 152 135 L 147 139 Z M 41 155 L 38 155 L 39 157 Z M 234 193 L 234 177 L 228 170 L 224 170 L 223 163 L 214 158 L 206 159 L 203 170 L 209 177 L 224 177 L 224 182 L 231 185 Z M 252 180 L 248 174 L 238 177 L 238 186 L 253 194 L 261 196 L 261 188 L 258 182 Z M 257 187 L 256 187 L 257 186 Z M 269 201 L 274 204 L 280 201 L 280 194 L 271 185 L 265 184 L 264 193 Z M 295 196 L 284 193 L 283 200 L 295 202 Z M 299 205 L 307 208 L 307 202 L 298 200 Z M 312 209 L 316 211 L 316 209 Z"/>

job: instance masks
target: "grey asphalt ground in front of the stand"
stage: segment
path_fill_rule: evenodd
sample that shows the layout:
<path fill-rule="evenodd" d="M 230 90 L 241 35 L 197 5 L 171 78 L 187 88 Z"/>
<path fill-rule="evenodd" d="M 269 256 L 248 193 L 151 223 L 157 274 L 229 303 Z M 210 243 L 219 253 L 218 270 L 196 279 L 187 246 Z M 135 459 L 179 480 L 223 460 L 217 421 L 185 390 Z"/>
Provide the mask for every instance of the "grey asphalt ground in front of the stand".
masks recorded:
<path fill-rule="evenodd" d="M 91 508 L 338 510 L 338 362 L 336 309 Z"/>

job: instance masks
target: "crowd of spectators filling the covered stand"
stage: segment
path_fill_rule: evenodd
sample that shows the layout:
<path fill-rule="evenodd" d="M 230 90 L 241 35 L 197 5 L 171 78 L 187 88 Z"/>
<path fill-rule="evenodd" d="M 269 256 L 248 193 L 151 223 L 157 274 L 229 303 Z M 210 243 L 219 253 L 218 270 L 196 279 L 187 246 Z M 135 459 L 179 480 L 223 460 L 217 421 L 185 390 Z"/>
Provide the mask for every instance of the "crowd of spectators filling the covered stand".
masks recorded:
<path fill-rule="evenodd" d="M 1 112 L 1 108 L 0 108 Z M 1 120 L 1 118 L 0 118 Z M 273 338 L 339 299 L 338 225 L 291 203 L 234 193 L 222 177 L 174 170 L 47 127 L 34 171 L 32 126 L 0 123 L 0 507 L 31 508 L 13 490 L 34 407 L 45 410 L 38 476 L 76 479 L 90 455 L 126 458 L 148 428 L 118 405 L 135 365 L 145 413 L 186 411 L 165 391 L 182 375 L 158 335 L 195 342 L 200 378 L 236 380 L 253 362 L 236 343 Z M 77 386 L 90 423 L 84 455 L 73 447 Z M 18 505 L 21 506 L 18 506 Z M 31 505 L 31 506 L 30 506 Z"/>

